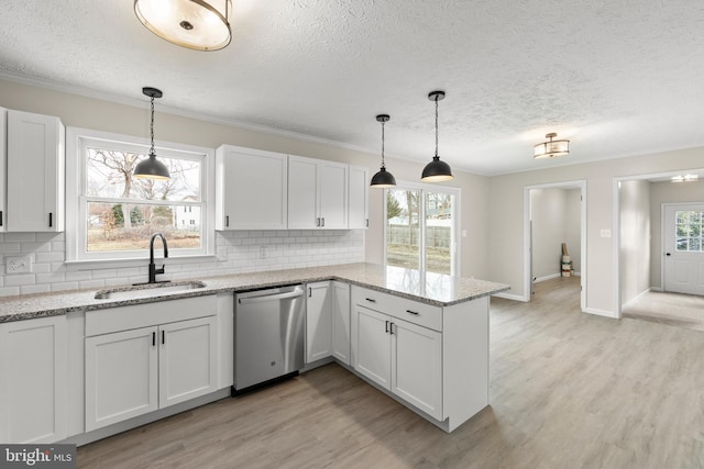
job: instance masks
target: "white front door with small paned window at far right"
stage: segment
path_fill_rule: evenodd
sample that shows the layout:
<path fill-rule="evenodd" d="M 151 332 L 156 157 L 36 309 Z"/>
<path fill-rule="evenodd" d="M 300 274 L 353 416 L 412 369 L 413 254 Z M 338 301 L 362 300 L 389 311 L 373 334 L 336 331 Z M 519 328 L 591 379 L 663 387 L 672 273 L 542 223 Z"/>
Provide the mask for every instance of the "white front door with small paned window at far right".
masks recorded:
<path fill-rule="evenodd" d="M 666 204 L 664 290 L 704 294 L 704 203 Z"/>

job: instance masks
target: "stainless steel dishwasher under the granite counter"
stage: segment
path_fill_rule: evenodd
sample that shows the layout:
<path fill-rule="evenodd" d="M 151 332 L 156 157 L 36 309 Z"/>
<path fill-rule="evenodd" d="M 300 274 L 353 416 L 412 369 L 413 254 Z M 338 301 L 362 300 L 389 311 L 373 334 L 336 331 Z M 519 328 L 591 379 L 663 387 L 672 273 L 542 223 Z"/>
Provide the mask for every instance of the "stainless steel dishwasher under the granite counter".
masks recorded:
<path fill-rule="evenodd" d="M 234 387 L 241 391 L 304 367 L 300 284 L 234 295 Z"/>

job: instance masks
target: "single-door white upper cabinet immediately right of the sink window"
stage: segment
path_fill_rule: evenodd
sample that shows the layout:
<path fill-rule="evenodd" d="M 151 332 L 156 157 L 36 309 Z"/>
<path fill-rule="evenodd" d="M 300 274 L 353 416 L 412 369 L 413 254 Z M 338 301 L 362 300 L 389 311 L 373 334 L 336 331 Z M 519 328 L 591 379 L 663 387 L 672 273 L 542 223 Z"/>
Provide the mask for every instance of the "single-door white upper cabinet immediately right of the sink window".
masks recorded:
<path fill-rule="evenodd" d="M 220 146 L 216 150 L 216 230 L 286 230 L 287 158 Z"/>

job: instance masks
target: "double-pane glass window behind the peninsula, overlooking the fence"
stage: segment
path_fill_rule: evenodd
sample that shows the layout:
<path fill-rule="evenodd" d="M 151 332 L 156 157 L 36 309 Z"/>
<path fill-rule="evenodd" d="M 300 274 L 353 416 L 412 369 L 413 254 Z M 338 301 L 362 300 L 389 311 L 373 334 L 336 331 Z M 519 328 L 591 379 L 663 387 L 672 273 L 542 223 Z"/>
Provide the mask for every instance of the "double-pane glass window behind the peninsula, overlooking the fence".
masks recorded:
<path fill-rule="evenodd" d="M 387 189 L 386 265 L 457 275 L 459 196 L 457 188 L 429 185 Z"/>

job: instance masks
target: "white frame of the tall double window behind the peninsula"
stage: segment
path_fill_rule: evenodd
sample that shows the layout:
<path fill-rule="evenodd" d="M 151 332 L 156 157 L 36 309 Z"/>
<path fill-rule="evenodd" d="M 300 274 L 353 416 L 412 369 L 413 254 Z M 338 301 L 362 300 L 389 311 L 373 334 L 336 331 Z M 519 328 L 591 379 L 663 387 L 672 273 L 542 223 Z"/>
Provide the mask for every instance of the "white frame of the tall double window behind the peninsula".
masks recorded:
<path fill-rule="evenodd" d="M 452 276 L 460 276 L 460 272 L 462 271 L 462 255 L 461 255 L 461 243 L 460 243 L 460 227 L 462 226 L 461 223 L 461 200 L 462 200 L 462 189 L 458 188 L 458 187 L 452 187 L 452 186 L 439 186 L 439 185 L 431 185 L 431 183 L 426 183 L 426 182 L 408 182 L 408 181 L 397 181 L 396 182 L 396 187 L 391 188 L 391 189 L 400 189 L 400 190 L 414 190 L 414 191 L 419 191 L 420 192 L 420 200 L 422 201 L 422 203 L 419 204 L 419 213 L 418 213 L 418 217 L 419 221 L 422 222 L 422 224 L 419 226 L 420 233 L 419 233 L 419 245 L 420 245 L 420 249 L 419 249 L 419 256 L 420 258 L 418 259 L 418 266 L 421 272 L 426 272 L 426 257 L 427 257 L 427 253 L 426 253 L 426 192 L 436 192 L 436 193 L 447 193 L 453 197 L 453 220 L 452 220 L 452 230 L 451 230 L 451 243 L 450 243 L 450 271 Z M 384 201 L 384 267 L 388 266 L 387 263 L 387 239 L 388 239 L 388 233 L 387 233 L 387 228 L 388 228 L 388 219 L 387 219 L 387 203 L 386 203 L 386 199 L 388 197 L 388 191 L 391 189 L 384 189 L 384 196 L 383 196 L 383 201 Z"/>

